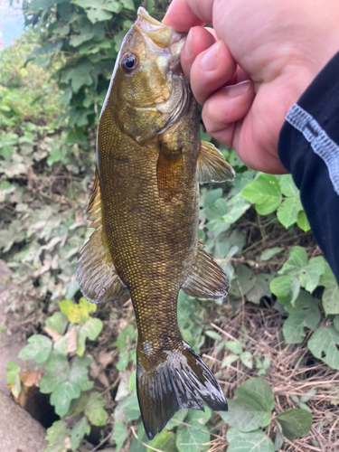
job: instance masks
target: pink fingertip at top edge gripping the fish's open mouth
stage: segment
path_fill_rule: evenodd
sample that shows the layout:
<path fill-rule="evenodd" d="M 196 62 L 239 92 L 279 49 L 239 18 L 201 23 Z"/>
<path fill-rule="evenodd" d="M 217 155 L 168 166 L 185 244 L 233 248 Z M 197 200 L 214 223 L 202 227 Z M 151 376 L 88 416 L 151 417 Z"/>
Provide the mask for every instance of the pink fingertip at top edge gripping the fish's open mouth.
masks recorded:
<path fill-rule="evenodd" d="M 212 24 L 213 0 L 173 0 L 163 23 L 178 32 L 188 32 L 196 25 Z"/>

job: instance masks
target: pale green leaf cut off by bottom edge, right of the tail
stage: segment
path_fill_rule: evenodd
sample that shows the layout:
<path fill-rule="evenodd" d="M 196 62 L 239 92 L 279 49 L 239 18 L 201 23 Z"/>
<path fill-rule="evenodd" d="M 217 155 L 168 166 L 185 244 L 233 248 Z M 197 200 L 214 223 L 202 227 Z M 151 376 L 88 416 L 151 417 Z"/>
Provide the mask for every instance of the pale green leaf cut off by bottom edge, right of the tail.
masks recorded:
<path fill-rule="evenodd" d="M 227 452 L 274 452 L 272 441 L 261 430 L 243 433 L 230 428 L 226 438 L 230 443 Z"/>

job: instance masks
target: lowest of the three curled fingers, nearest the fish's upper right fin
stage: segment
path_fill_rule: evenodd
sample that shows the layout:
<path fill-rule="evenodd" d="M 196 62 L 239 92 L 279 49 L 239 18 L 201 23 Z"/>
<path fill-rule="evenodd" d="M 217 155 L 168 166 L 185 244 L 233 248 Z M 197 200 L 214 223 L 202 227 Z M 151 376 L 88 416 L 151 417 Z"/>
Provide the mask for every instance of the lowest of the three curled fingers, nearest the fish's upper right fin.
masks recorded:
<path fill-rule="evenodd" d="M 232 146 L 235 123 L 246 116 L 253 99 L 254 89 L 250 80 L 216 91 L 202 108 L 207 132 L 226 146 Z"/>

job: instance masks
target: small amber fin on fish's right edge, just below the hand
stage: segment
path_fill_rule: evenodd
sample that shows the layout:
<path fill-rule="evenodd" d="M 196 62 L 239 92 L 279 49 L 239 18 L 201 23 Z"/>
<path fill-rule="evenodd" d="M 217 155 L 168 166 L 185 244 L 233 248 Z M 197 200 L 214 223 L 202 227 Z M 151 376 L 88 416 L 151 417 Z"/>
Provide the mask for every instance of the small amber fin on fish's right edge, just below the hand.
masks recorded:
<path fill-rule="evenodd" d="M 197 181 L 200 184 L 209 182 L 232 181 L 235 172 L 212 143 L 202 141 L 197 164 Z"/>

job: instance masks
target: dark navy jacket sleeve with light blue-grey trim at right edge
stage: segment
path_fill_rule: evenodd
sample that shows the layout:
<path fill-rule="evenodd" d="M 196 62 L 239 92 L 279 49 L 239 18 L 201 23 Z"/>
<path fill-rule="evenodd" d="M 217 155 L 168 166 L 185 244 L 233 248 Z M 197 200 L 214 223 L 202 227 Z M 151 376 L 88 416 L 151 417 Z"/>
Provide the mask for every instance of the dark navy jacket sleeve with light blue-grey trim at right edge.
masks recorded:
<path fill-rule="evenodd" d="M 339 282 L 339 52 L 289 109 L 278 153 Z"/>

